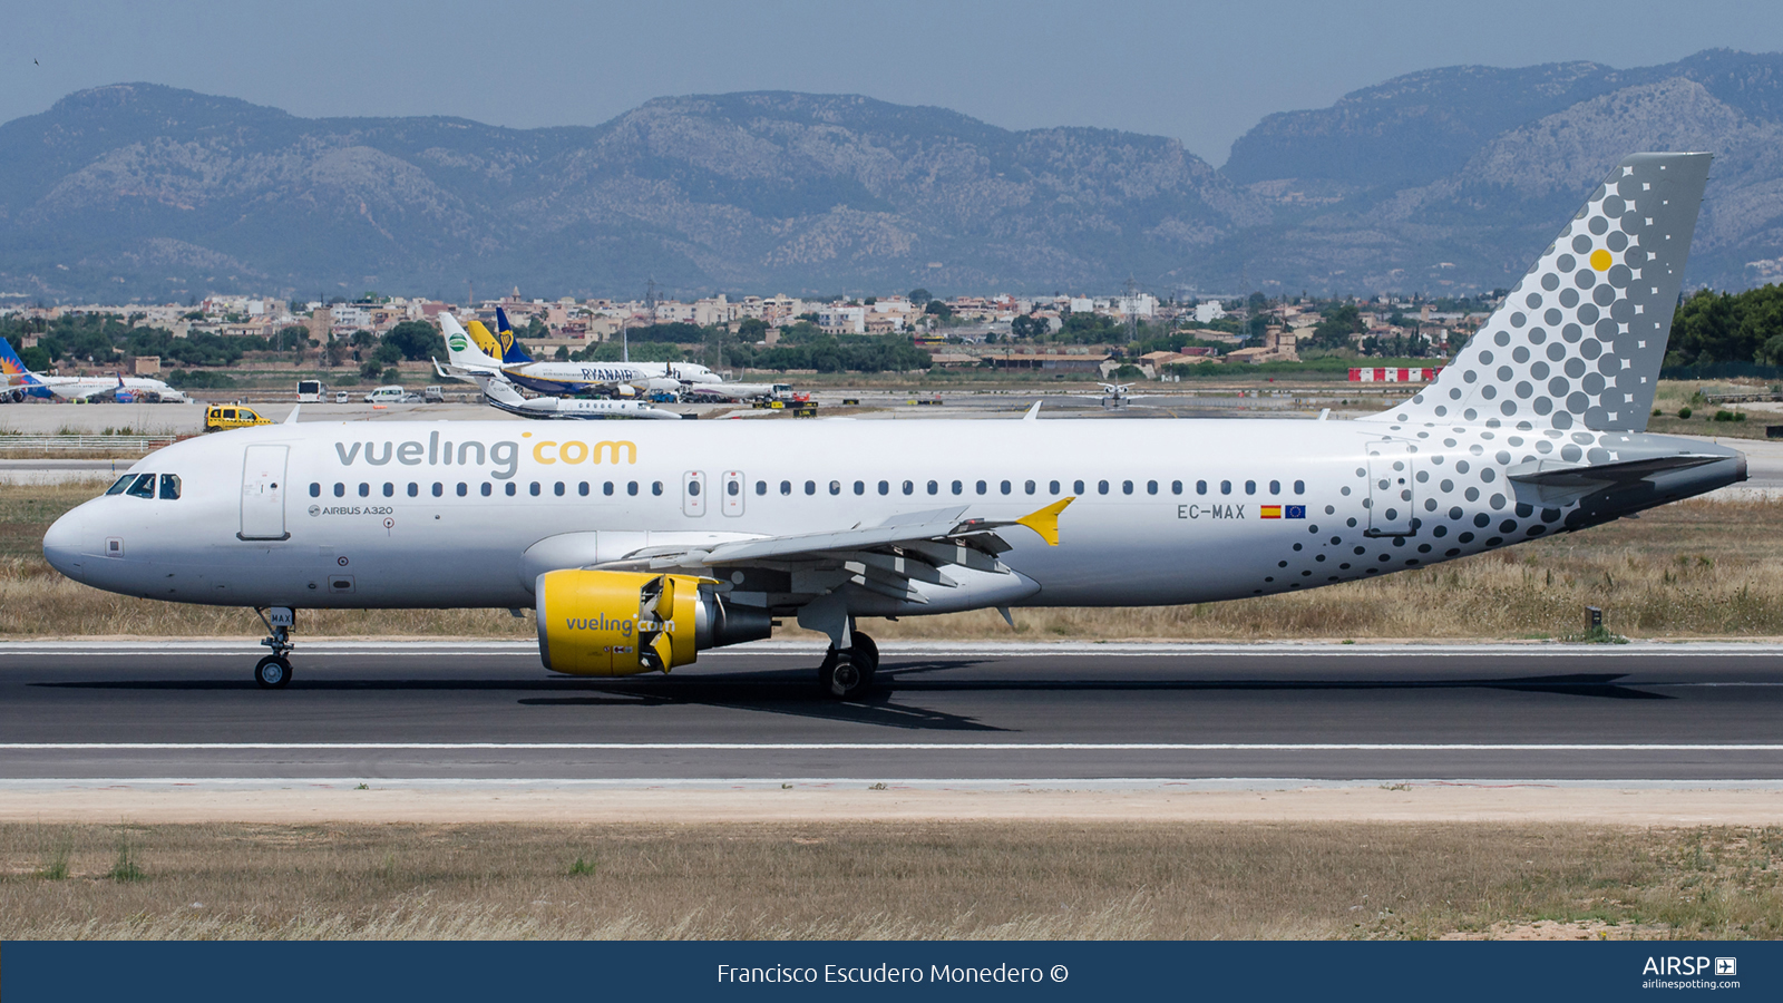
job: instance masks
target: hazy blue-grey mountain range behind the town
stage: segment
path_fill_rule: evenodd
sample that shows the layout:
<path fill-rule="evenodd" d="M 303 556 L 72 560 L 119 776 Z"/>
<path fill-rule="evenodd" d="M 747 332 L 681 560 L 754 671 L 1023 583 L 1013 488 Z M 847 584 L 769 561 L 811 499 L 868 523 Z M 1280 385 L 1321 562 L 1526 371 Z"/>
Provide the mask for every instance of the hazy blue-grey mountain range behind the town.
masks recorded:
<path fill-rule="evenodd" d="M 0 125 L 0 294 L 185 300 L 1508 286 L 1631 150 L 1717 153 L 1690 286 L 1783 278 L 1783 55 L 1455 66 L 1175 139 L 852 95 L 597 127 L 296 118 L 155 84 Z"/>

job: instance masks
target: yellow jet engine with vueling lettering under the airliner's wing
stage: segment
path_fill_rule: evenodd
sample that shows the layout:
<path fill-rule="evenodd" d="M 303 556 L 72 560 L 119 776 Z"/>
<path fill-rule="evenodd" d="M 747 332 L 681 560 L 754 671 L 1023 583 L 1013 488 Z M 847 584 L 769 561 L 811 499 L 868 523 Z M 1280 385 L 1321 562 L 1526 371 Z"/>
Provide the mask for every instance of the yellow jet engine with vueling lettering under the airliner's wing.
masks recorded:
<path fill-rule="evenodd" d="M 694 575 L 546 571 L 533 589 L 538 657 L 555 673 L 631 676 L 772 634 L 765 609 L 726 603 L 713 585 Z"/>

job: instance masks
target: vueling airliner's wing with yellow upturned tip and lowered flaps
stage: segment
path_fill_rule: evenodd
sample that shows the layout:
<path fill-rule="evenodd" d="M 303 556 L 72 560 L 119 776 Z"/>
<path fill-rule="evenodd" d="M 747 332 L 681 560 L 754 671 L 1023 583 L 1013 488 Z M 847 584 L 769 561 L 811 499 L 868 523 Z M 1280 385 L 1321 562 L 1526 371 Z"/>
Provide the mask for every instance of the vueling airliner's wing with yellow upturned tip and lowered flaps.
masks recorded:
<path fill-rule="evenodd" d="M 1000 530 L 1027 526 L 1048 546 L 1059 543 L 1059 512 L 1073 498 L 1063 498 L 1015 519 L 966 518 L 966 509 L 936 509 L 886 519 L 877 526 L 852 526 L 818 534 L 727 541 L 708 546 L 649 546 L 620 560 L 599 564 L 603 569 L 629 571 L 710 571 L 719 568 L 767 568 L 806 573 L 808 594 L 852 584 L 893 600 L 927 603 L 911 582 L 952 587 L 943 568 L 1009 573 L 997 560 L 1011 550 Z M 804 591 L 804 589 L 795 589 Z"/>

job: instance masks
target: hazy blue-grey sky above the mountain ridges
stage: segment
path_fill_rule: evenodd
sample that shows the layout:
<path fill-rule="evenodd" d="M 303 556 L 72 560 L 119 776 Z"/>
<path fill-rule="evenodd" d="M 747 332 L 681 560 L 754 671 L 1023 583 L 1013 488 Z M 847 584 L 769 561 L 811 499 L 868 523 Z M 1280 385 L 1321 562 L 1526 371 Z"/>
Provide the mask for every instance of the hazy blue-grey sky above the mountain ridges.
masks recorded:
<path fill-rule="evenodd" d="M 301 116 L 594 125 L 661 95 L 792 89 L 993 125 L 1161 136 L 1221 164 L 1273 111 L 1480 62 L 1783 50 L 1783 4 L 1280 0 L 0 0 L 0 121 L 150 80 Z M 34 62 L 36 61 L 36 62 Z"/>

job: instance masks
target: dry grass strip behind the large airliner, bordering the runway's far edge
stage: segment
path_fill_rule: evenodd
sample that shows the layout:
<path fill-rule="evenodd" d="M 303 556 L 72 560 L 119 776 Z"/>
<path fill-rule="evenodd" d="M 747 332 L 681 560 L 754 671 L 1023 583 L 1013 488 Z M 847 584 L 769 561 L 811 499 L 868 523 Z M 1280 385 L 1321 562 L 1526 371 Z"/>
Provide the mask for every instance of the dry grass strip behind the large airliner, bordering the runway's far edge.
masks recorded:
<path fill-rule="evenodd" d="M 57 575 L 43 530 L 94 485 L 0 485 L 0 637 L 259 635 L 250 610 L 112 596 Z M 1043 639 L 1537 639 L 1605 610 L 1628 637 L 1783 635 L 1783 502 L 1685 502 L 1580 534 L 1296 593 L 1152 609 L 1016 610 Z M 533 637 L 506 610 L 305 612 L 305 637 Z M 995 612 L 870 621 L 881 639 L 1002 639 Z M 788 632 L 797 634 L 797 632 Z"/>

